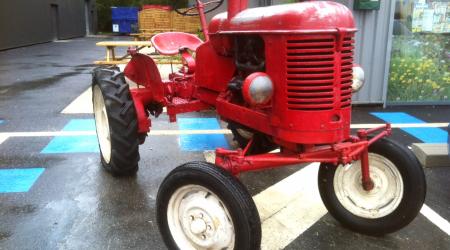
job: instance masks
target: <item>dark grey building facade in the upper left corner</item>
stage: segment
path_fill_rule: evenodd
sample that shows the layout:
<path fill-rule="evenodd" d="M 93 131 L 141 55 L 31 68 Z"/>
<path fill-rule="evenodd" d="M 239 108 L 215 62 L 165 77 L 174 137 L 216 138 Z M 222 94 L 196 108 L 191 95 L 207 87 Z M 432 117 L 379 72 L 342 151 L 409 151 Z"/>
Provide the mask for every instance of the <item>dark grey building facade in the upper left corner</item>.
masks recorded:
<path fill-rule="evenodd" d="M 95 33 L 95 0 L 0 1 L 0 50 Z"/>

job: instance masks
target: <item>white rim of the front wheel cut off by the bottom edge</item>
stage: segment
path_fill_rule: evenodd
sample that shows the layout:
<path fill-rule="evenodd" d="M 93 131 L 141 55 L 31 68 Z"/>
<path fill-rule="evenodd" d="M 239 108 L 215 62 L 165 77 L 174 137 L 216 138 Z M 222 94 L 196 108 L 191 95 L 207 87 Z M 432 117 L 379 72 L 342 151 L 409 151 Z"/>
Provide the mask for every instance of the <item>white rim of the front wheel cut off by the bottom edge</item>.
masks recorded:
<path fill-rule="evenodd" d="M 167 208 L 170 232 L 180 249 L 233 249 L 235 232 L 224 203 L 199 185 L 178 188 Z"/>

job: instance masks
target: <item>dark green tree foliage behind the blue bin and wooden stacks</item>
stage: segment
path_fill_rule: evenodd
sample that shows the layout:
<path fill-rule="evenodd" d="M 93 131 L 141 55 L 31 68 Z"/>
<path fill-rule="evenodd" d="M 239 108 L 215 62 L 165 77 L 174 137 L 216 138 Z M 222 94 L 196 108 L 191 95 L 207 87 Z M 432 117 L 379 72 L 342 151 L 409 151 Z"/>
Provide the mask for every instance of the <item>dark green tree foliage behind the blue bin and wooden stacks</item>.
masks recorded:
<path fill-rule="evenodd" d="M 99 31 L 110 32 L 112 29 L 111 7 L 141 7 L 144 4 L 172 5 L 173 1 L 188 0 L 97 0 L 97 15 Z"/>

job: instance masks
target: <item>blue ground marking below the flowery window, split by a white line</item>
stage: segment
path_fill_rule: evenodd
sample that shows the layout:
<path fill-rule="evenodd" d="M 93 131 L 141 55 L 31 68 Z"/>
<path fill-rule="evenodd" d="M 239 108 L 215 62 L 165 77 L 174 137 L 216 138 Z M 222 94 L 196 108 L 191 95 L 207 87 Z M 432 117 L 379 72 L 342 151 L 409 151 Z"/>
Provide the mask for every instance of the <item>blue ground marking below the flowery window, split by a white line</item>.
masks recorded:
<path fill-rule="evenodd" d="M 373 112 L 371 114 L 389 123 L 426 123 L 403 112 Z M 447 131 L 440 128 L 401 128 L 401 130 L 425 143 L 446 143 L 448 138 Z"/>

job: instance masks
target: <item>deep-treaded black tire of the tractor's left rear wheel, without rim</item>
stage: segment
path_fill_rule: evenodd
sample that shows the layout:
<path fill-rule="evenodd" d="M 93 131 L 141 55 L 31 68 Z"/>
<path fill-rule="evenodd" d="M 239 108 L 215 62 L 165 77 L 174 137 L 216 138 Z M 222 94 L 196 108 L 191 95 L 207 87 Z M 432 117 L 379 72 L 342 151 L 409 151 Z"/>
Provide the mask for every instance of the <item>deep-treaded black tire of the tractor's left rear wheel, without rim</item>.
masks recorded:
<path fill-rule="evenodd" d="M 118 68 L 96 68 L 92 80 L 93 93 L 95 86 L 100 88 L 104 98 L 111 140 L 111 159 L 107 163 L 100 152 L 102 165 L 113 175 L 133 175 L 138 170 L 140 141 L 128 84 Z M 94 95 L 92 98 L 94 103 Z"/>

